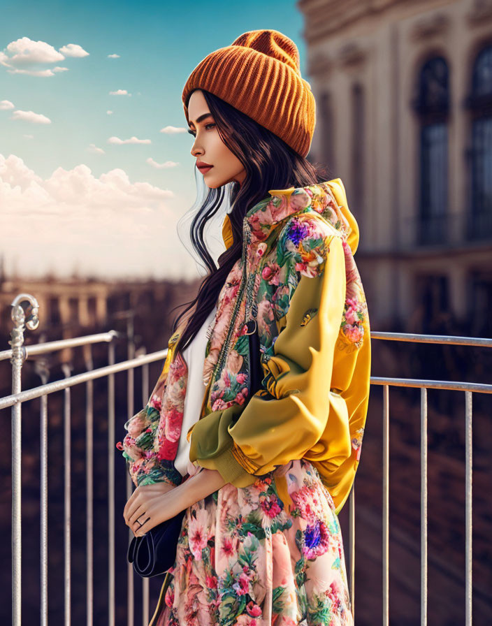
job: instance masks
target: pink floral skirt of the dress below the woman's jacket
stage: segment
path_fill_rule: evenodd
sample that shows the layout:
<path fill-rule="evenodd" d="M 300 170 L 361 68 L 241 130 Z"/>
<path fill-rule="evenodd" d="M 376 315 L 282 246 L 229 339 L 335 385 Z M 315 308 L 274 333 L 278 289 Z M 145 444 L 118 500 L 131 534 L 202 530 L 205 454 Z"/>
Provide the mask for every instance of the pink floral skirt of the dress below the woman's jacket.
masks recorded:
<path fill-rule="evenodd" d="M 277 467 L 249 487 L 228 483 L 187 509 L 175 564 L 151 622 L 353 623 L 333 500 L 304 459 Z"/>

